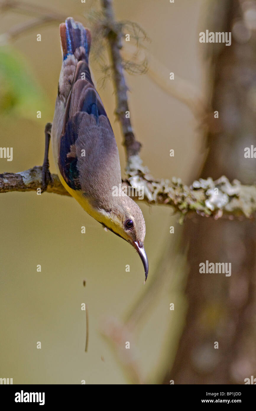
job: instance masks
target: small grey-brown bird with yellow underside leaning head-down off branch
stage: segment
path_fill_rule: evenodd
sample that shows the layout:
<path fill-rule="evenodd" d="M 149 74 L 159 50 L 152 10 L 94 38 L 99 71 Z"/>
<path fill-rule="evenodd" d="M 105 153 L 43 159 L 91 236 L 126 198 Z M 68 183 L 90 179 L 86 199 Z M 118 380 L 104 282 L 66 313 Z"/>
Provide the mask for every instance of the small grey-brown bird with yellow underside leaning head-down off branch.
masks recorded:
<path fill-rule="evenodd" d="M 120 159 L 111 123 L 90 74 L 90 30 L 68 17 L 60 24 L 60 44 L 62 66 L 53 122 L 45 128 L 42 190 L 51 180 L 51 138 L 62 185 L 91 217 L 136 249 L 146 281 L 148 257 L 144 249 L 143 213 L 125 192 L 113 195 L 113 188 L 122 183 Z"/>

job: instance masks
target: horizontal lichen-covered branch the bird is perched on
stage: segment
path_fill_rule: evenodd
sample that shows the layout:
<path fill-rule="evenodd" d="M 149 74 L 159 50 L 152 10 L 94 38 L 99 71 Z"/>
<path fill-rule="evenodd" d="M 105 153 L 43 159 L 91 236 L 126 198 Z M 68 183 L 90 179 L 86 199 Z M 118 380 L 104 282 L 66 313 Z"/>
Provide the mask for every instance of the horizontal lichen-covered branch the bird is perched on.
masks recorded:
<path fill-rule="evenodd" d="M 0 174 L 0 193 L 12 191 L 37 191 L 42 185 L 42 167 L 20 173 Z M 47 192 L 69 196 L 62 186 L 58 175 L 52 174 L 53 184 L 48 185 Z M 143 167 L 137 174 L 130 175 L 123 185 L 131 185 L 144 191 L 145 201 L 149 204 L 169 205 L 174 211 L 185 217 L 188 213 L 196 212 L 203 216 L 214 216 L 215 219 L 224 216 L 250 218 L 256 212 L 256 186 L 242 185 L 238 180 L 232 183 L 222 176 L 216 181 L 212 178 L 194 181 L 188 187 L 180 178 L 155 180 Z M 141 191 L 143 187 L 143 191 Z"/>

